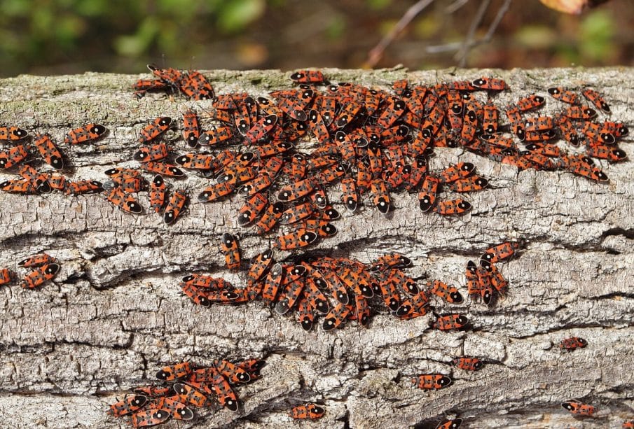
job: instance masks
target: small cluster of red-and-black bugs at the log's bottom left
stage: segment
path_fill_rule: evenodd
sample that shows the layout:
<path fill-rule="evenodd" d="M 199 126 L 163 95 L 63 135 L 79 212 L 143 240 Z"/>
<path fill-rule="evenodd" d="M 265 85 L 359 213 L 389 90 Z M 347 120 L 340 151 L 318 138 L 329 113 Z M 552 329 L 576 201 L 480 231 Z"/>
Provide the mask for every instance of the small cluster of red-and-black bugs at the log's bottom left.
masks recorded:
<path fill-rule="evenodd" d="M 209 367 L 194 367 L 183 362 L 161 368 L 156 378 L 161 386 L 139 386 L 133 395 L 110 406 L 115 417 L 131 416 L 135 428 L 155 426 L 169 419 L 192 420 L 191 407 L 212 405 L 212 398 L 230 411 L 237 411 L 235 387 L 260 377 L 263 360 L 249 359 L 237 363 L 216 360 Z"/>

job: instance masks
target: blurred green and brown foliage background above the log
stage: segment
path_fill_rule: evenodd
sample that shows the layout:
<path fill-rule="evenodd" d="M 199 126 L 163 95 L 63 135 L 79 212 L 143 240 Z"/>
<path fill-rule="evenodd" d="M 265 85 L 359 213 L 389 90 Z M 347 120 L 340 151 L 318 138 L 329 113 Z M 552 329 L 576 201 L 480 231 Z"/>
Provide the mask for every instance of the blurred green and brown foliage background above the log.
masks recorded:
<path fill-rule="evenodd" d="M 459 0 L 460 1 L 460 0 Z M 435 1 L 392 41 L 377 67 L 457 64 L 481 0 Z M 460 3 L 462 3 L 460 1 Z M 483 36 L 503 0 L 492 0 Z M 83 71 L 358 68 L 414 1 L 404 0 L 0 0 L 0 76 Z M 515 0 L 471 67 L 634 65 L 634 1 L 565 15 Z"/>

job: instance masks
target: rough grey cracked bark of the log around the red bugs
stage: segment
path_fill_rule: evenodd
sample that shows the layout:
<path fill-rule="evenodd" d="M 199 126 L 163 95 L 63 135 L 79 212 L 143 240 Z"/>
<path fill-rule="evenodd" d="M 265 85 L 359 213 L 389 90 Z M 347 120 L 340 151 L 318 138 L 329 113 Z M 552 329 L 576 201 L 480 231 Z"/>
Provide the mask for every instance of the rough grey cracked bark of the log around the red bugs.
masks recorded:
<path fill-rule="evenodd" d="M 434 84 L 497 76 L 511 86 L 496 97 L 498 106 L 531 92 L 546 94 L 553 85 L 588 85 L 605 94 L 612 118 L 634 124 L 634 69 L 324 73 L 335 82 L 381 87 L 401 78 Z M 205 74 L 216 94 L 266 95 L 289 86 L 289 73 L 279 71 Z M 103 181 L 105 169 L 135 165 L 129 160 L 148 120 L 210 106 L 163 94 L 137 101 L 130 88 L 139 77 L 0 80 L 0 122 L 49 132 L 55 141 L 70 127 L 106 125 L 105 139 L 71 149 L 76 177 Z M 559 108 L 547 100 L 546 113 Z M 184 151 L 179 132 L 167 138 Z M 621 148 L 634 157 L 631 143 Z M 632 162 L 601 162 L 607 185 L 562 171 L 518 174 L 460 149 L 436 150 L 432 168 L 457 160 L 474 162 L 492 184 L 469 195 L 474 209 L 467 216 L 427 216 L 418 211 L 415 195 L 401 192 L 394 194 L 392 216 L 368 208 L 343 216 L 336 237 L 311 250 L 363 262 L 399 251 L 413 260 L 412 276 L 443 279 L 466 296 L 467 260 L 491 244 L 523 238 L 521 255 L 502 265 L 508 295 L 492 308 L 470 300 L 451 306 L 473 323 L 473 329 L 453 333 L 429 330 L 428 317 L 398 321 L 385 311 L 373 316 L 369 329 L 350 323 L 334 332 L 305 333 L 261 302 L 194 306 L 179 295 L 186 273 L 241 283 L 223 270 L 223 232 L 240 232 L 247 258 L 270 245 L 237 226 L 237 197 L 212 204 L 193 198 L 186 216 L 170 227 L 158 216 L 126 215 L 99 195 L 0 192 L 0 267 L 15 267 L 39 251 L 62 262 L 55 281 L 41 290 L 0 290 L 0 426 L 126 426 L 106 416 L 116 397 L 153 381 L 161 365 L 208 364 L 218 357 L 266 358 L 268 365 L 261 380 L 239 389 L 240 412 L 203 409 L 197 422 L 166 428 L 433 428 L 442 416 L 460 416 L 466 428 L 620 428 L 634 419 Z M 0 181 L 6 178 L 0 174 Z M 180 185 L 195 196 L 205 182 L 190 174 Z M 338 202 L 338 195 L 330 197 Z M 563 353 L 556 344 L 570 336 L 589 344 Z M 450 361 L 462 355 L 480 356 L 487 365 L 474 373 L 456 370 Z M 410 377 L 421 372 L 453 374 L 455 381 L 441 391 L 411 388 Z M 574 420 L 559 405 L 570 398 L 598 407 L 595 418 Z M 327 407 L 324 419 L 291 421 L 287 409 L 308 400 Z"/>

